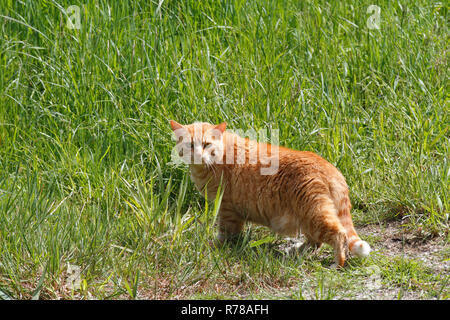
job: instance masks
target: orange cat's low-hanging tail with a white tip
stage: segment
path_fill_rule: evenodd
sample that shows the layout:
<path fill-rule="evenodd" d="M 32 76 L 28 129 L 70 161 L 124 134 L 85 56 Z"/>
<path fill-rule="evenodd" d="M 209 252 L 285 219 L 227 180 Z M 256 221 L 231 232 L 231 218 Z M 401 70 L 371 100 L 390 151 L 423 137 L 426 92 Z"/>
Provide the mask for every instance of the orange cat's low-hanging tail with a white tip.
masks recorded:
<path fill-rule="evenodd" d="M 338 210 L 338 217 L 347 233 L 348 249 L 355 256 L 367 257 L 371 251 L 370 245 L 366 241 L 361 240 L 361 238 L 356 233 L 355 227 L 353 226 L 352 222 L 352 216 L 350 214 L 350 208 L 350 199 L 342 199 L 340 208 Z"/>

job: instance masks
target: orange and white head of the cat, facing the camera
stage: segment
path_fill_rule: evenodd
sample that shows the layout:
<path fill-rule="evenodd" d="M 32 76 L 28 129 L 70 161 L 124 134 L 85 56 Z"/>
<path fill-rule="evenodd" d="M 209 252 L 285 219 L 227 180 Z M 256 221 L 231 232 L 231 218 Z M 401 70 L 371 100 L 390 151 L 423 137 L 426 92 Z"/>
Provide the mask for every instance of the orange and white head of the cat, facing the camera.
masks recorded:
<path fill-rule="evenodd" d="M 218 125 L 206 122 L 182 125 L 171 120 L 170 126 L 175 133 L 178 154 L 186 163 L 205 165 L 222 163 L 226 122 Z"/>

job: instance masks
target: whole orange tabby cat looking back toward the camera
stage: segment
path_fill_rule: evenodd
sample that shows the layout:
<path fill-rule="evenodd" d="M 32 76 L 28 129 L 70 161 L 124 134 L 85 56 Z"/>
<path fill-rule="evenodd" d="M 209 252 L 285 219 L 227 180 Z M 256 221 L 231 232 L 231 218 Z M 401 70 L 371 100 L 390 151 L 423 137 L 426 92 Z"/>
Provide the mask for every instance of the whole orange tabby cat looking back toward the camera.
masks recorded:
<path fill-rule="evenodd" d="M 361 257 L 370 253 L 353 227 L 345 178 L 328 161 L 242 138 L 226 131 L 226 123 L 170 124 L 197 189 L 214 199 L 222 184 L 219 241 L 239 234 L 250 221 L 283 235 L 301 232 L 307 239 L 302 250 L 330 244 L 336 266 L 344 265 L 348 249 Z M 263 172 L 274 163 L 275 170 Z"/>

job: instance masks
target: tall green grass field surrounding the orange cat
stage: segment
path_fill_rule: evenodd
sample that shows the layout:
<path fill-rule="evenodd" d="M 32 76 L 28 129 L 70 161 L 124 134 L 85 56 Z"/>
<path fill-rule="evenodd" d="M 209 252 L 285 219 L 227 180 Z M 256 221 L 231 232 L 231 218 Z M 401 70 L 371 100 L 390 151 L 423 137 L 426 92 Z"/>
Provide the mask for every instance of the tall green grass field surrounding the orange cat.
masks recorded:
<path fill-rule="evenodd" d="M 371 4 L 1 1 L 0 298 L 352 298 L 372 265 L 391 298 L 448 298 L 417 261 L 337 272 L 261 227 L 210 249 L 218 204 L 169 164 L 169 119 L 278 129 L 343 172 L 357 225 L 448 240 L 448 7 L 378 1 L 369 30 Z"/>

